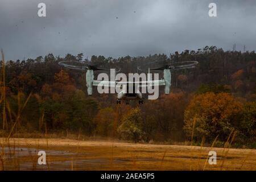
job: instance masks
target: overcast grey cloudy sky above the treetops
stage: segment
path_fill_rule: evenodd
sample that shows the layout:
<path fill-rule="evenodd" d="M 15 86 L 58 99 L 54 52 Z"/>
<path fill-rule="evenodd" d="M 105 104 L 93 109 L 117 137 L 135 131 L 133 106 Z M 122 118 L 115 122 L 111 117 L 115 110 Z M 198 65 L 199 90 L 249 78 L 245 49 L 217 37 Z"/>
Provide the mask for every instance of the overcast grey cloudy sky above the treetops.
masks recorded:
<path fill-rule="evenodd" d="M 38 3 L 46 17 L 38 17 Z M 217 4 L 210 18 L 208 5 Z M 256 49 L 256 1 L 0 0 L 6 60 L 53 53 L 147 56 L 217 46 Z"/>

